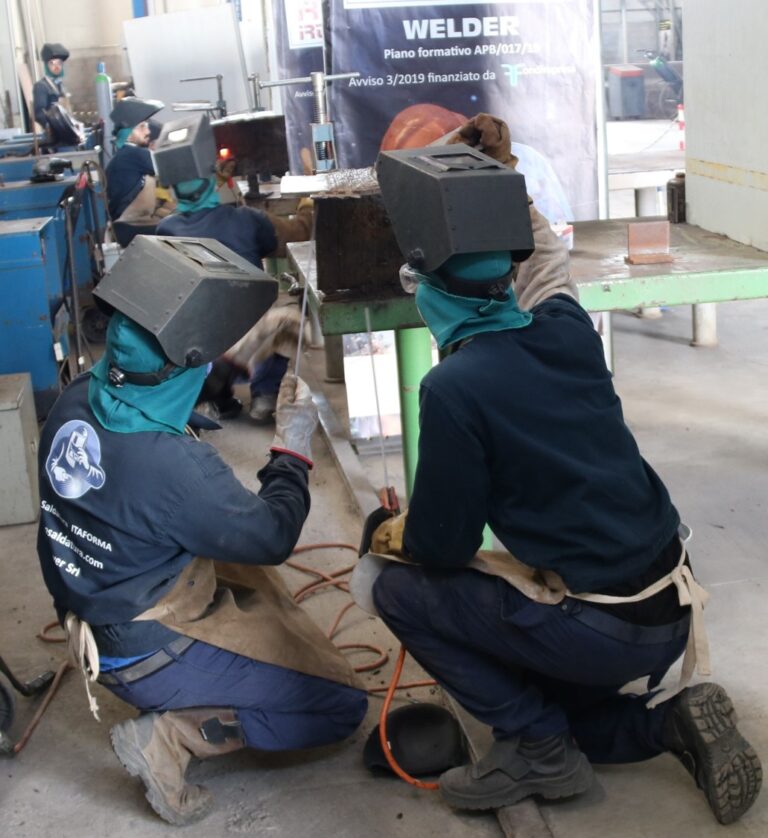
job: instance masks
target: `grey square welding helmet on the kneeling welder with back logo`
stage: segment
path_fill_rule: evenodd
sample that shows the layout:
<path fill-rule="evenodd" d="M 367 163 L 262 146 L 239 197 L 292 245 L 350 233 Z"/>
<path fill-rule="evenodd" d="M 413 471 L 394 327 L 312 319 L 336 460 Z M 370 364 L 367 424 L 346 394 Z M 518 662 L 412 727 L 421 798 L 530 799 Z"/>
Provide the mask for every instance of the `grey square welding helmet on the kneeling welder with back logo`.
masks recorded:
<path fill-rule="evenodd" d="M 136 236 L 93 295 L 154 335 L 173 364 L 199 367 L 266 313 L 277 285 L 215 239 Z"/>

